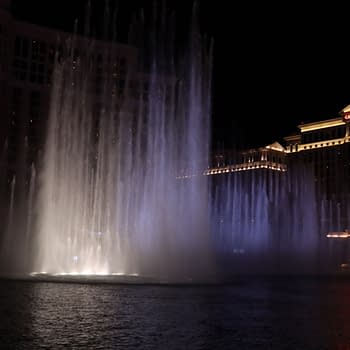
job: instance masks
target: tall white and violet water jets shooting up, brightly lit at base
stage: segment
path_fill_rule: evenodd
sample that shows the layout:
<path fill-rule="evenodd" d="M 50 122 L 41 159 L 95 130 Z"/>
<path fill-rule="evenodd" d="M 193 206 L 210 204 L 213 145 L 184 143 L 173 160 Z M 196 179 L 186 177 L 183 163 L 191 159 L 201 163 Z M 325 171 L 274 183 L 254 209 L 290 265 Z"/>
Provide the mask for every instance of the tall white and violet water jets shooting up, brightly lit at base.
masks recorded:
<path fill-rule="evenodd" d="M 147 74 L 131 64 L 123 75 L 114 43 L 72 38 L 57 57 L 33 271 L 211 272 L 208 180 L 198 176 L 208 164 L 211 51 L 194 25 L 175 57 L 169 22 L 154 22 L 162 35 L 141 57 Z"/>

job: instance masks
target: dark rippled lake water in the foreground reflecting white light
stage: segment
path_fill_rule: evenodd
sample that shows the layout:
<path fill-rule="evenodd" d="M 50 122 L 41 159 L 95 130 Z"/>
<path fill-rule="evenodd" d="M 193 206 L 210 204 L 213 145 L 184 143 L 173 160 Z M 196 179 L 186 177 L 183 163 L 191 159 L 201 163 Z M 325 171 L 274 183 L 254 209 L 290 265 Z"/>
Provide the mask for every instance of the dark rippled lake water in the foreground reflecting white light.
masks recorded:
<path fill-rule="evenodd" d="M 350 276 L 216 286 L 2 280 L 0 317 L 0 349 L 350 350 Z"/>

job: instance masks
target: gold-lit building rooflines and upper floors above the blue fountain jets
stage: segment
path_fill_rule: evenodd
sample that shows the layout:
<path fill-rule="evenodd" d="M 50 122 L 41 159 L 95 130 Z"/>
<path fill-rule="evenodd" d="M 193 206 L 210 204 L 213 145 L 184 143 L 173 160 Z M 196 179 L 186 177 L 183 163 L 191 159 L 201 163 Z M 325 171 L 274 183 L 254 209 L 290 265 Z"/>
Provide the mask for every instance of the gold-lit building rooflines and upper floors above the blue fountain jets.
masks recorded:
<path fill-rule="evenodd" d="M 350 194 L 350 105 L 340 116 L 298 126 L 300 132 L 284 137 L 284 146 L 216 152 L 206 175 L 269 169 L 288 171 L 297 164 L 312 169 L 316 187 L 326 197 Z"/>

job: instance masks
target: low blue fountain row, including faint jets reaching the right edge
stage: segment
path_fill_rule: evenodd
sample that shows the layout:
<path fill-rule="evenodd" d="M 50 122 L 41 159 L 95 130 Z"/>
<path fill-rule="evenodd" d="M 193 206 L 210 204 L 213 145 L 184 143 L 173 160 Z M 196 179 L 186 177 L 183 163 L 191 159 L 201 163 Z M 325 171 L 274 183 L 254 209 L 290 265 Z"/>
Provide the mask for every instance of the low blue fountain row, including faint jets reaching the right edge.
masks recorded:
<path fill-rule="evenodd" d="M 349 196 L 327 195 L 312 164 L 213 177 L 212 231 L 225 274 L 334 274 L 349 259 L 348 235 L 327 235 L 349 227 Z"/>

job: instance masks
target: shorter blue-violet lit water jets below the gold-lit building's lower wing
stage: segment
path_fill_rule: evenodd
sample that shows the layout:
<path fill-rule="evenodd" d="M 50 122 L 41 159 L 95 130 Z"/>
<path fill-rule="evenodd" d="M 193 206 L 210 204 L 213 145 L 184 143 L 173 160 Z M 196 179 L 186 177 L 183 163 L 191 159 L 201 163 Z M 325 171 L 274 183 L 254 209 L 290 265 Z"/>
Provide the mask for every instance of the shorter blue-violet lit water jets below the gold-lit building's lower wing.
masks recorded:
<path fill-rule="evenodd" d="M 240 171 L 214 186 L 217 250 L 235 272 L 310 272 L 320 225 L 312 172 Z"/>

